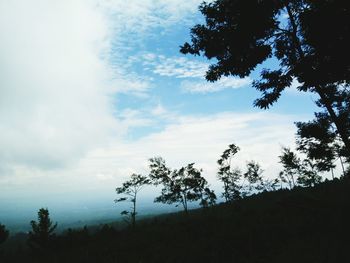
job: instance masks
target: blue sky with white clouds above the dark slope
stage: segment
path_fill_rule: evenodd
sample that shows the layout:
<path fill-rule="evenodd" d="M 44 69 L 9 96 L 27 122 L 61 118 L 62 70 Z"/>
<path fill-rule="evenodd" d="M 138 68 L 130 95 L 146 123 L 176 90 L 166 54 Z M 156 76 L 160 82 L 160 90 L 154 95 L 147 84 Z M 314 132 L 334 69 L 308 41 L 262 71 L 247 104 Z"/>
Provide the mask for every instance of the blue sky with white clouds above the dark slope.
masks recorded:
<path fill-rule="evenodd" d="M 273 60 L 206 82 L 211 62 L 179 52 L 203 22 L 201 2 L 0 0 L 0 221 L 40 207 L 117 216 L 115 187 L 147 175 L 155 156 L 172 168 L 195 162 L 219 194 L 216 161 L 231 143 L 235 165 L 255 160 L 277 176 L 315 98 L 291 88 L 254 108 L 251 83 Z M 150 205 L 155 191 L 142 194 Z"/>

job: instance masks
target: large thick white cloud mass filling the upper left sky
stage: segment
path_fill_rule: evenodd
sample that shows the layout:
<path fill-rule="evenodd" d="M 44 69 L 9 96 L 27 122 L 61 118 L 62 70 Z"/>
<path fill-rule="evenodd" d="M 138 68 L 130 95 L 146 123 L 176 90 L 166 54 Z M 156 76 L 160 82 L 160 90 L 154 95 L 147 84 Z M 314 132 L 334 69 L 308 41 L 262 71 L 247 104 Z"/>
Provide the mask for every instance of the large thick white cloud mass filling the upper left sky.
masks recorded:
<path fill-rule="evenodd" d="M 62 167 L 117 133 L 94 5 L 1 1 L 0 34 L 0 166 Z"/>

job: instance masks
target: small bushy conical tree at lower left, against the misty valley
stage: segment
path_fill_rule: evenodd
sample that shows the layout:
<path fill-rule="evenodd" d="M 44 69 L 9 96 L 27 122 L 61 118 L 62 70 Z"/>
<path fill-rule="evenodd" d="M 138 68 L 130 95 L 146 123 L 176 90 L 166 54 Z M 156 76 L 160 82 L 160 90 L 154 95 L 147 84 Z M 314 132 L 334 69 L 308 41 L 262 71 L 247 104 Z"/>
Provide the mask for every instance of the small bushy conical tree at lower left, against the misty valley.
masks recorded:
<path fill-rule="evenodd" d="M 57 227 L 57 223 L 53 224 L 50 219 L 49 210 L 41 208 L 38 211 L 38 222 L 32 220 L 30 222 L 32 231 L 29 232 L 29 245 L 34 248 L 48 248 L 55 237 L 53 233 Z"/>

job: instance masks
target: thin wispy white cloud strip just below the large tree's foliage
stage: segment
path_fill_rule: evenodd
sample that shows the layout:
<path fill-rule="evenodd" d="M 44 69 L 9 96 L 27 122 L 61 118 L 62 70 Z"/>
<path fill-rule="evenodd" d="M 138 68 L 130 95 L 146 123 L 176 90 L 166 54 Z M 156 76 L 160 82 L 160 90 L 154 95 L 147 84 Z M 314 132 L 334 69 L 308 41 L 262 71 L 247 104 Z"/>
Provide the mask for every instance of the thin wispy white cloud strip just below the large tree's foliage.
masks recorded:
<path fill-rule="evenodd" d="M 181 89 L 188 93 L 212 93 L 224 89 L 238 89 L 249 86 L 252 80 L 249 77 L 240 79 L 235 77 L 223 77 L 216 82 L 189 81 L 185 80 L 181 83 Z"/>

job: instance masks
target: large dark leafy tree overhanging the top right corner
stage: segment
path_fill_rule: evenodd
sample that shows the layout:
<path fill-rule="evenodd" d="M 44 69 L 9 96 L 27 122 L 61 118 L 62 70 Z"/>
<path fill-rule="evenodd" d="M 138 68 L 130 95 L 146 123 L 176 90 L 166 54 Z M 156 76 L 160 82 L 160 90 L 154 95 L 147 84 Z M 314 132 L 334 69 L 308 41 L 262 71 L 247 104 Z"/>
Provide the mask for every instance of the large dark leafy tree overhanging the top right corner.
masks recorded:
<path fill-rule="evenodd" d="M 349 7 L 342 0 L 204 2 L 199 10 L 205 24 L 191 29 L 191 43 L 180 51 L 215 59 L 208 81 L 246 77 L 274 57 L 279 65 L 263 69 L 253 83 L 262 93 L 254 105 L 269 108 L 296 79 L 299 91 L 318 94 L 318 106 L 329 115 L 350 157 L 350 120 L 342 110 L 349 104 Z"/>

